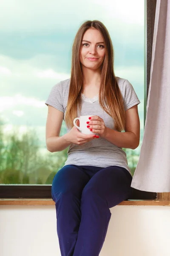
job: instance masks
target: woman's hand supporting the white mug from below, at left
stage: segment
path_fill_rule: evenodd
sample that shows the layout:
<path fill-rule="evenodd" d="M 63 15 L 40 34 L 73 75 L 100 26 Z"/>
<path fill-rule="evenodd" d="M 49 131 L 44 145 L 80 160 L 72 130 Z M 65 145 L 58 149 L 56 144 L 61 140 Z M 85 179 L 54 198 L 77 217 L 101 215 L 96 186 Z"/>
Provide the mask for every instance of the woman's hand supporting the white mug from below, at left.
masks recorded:
<path fill-rule="evenodd" d="M 83 145 L 91 140 L 98 139 L 99 136 L 95 134 L 82 134 L 75 126 L 65 134 L 65 140 L 69 143 L 74 143 L 77 145 Z"/>

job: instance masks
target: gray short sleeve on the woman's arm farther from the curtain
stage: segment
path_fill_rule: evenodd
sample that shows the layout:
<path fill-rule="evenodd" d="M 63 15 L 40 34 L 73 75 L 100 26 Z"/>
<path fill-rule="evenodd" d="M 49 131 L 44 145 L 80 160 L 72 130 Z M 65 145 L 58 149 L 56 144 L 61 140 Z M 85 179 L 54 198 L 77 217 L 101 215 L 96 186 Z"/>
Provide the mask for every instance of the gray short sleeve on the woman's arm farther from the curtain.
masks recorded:
<path fill-rule="evenodd" d="M 60 82 L 52 87 L 45 104 L 47 106 L 50 105 L 64 113 L 64 108 L 62 104 L 62 86 Z"/>

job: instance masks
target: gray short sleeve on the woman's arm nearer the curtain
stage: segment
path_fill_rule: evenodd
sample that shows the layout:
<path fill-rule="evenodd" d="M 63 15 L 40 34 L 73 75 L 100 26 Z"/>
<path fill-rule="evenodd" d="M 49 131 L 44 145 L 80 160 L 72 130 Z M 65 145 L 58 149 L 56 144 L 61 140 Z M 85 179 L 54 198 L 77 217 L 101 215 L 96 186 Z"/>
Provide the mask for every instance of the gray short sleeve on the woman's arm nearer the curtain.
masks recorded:
<path fill-rule="evenodd" d="M 135 90 L 133 89 L 132 84 L 128 80 L 125 80 L 123 83 L 123 99 L 124 99 L 124 107 L 125 111 L 129 108 L 132 108 L 134 105 L 138 105 L 140 103 Z"/>

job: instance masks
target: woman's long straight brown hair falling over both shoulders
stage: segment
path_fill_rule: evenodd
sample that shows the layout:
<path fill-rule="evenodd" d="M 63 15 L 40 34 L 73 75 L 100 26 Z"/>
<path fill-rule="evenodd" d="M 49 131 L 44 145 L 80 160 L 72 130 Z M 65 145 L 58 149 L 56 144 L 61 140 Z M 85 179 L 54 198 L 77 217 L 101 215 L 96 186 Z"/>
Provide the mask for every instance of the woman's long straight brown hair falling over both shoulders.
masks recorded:
<path fill-rule="evenodd" d="M 77 110 L 79 109 L 79 111 L 81 111 L 83 76 L 79 53 L 83 35 L 91 27 L 101 32 L 105 44 L 105 59 L 101 67 L 99 104 L 101 108 L 113 118 L 114 129 L 122 131 L 125 128 L 125 109 L 122 94 L 119 90 L 113 70 L 113 45 L 108 30 L 99 20 L 88 20 L 83 23 L 74 39 L 72 47 L 71 80 L 65 122 L 68 127 L 72 128 L 73 120 L 77 117 Z"/>

